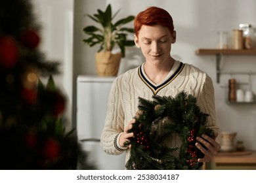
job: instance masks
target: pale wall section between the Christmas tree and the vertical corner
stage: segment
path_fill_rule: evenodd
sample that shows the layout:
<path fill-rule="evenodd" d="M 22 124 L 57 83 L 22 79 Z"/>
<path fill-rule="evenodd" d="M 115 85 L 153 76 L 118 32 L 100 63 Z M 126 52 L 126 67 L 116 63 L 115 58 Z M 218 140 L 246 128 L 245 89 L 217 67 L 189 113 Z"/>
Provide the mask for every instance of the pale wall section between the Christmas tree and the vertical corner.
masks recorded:
<path fill-rule="evenodd" d="M 47 60 L 58 61 L 56 86 L 66 95 L 65 125 L 72 129 L 74 0 L 32 0 L 37 23 L 41 25 L 40 49 Z M 44 79 L 44 78 L 41 78 Z M 45 78 L 43 82 L 47 80 Z"/>

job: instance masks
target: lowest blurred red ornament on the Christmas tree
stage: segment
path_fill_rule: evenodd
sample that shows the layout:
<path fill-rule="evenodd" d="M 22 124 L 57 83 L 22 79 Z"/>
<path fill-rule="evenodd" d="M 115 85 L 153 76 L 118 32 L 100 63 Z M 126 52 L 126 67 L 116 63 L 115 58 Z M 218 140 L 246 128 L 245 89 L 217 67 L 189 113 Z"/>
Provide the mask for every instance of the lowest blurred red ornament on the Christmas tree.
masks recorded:
<path fill-rule="evenodd" d="M 47 159 L 54 159 L 60 155 L 60 144 L 56 139 L 47 139 L 43 147 L 43 155 Z"/>

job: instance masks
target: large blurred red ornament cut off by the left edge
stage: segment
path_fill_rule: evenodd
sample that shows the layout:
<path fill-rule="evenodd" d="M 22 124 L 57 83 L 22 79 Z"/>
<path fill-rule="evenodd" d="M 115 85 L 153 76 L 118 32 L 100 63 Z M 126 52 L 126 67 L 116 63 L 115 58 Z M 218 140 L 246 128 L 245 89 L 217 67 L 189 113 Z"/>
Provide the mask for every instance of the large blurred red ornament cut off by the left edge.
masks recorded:
<path fill-rule="evenodd" d="M 18 46 L 11 35 L 0 37 L 0 64 L 12 68 L 18 61 Z"/>

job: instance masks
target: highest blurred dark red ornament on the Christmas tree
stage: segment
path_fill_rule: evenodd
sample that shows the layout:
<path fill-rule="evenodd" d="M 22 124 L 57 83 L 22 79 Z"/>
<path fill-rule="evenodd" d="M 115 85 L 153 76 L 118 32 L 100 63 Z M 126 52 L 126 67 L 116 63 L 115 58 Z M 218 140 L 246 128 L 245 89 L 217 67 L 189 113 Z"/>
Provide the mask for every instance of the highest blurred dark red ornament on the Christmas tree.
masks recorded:
<path fill-rule="evenodd" d="M 37 35 L 37 33 L 33 30 L 25 31 L 22 35 L 20 41 L 28 46 L 28 48 L 34 49 L 37 47 L 37 45 L 40 42 L 40 37 Z"/>

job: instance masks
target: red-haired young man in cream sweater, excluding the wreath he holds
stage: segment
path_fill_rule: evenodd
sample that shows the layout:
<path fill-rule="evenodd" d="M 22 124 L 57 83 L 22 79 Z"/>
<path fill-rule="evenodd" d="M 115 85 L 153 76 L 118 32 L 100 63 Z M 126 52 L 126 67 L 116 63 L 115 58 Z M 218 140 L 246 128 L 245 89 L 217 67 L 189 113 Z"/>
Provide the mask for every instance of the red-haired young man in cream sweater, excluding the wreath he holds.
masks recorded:
<path fill-rule="evenodd" d="M 211 78 L 200 69 L 171 57 L 171 45 L 176 41 L 176 31 L 170 14 L 158 7 L 149 7 L 140 12 L 134 22 L 135 44 L 140 48 L 145 62 L 116 78 L 108 101 L 105 127 L 101 145 L 107 154 L 126 152 L 124 143 L 134 136 L 128 133 L 135 123 L 139 97 L 152 99 L 152 95 L 171 95 L 179 92 L 197 98 L 202 112 L 209 114 L 208 127 L 214 129 L 215 138 L 206 135 L 197 137 L 196 146 L 205 154 L 199 162 L 210 161 L 219 151 L 220 134 L 215 116 L 214 89 Z M 170 146 L 180 146 L 179 137 L 174 137 Z M 206 148 L 203 148 L 203 146 Z"/>

